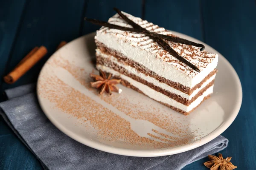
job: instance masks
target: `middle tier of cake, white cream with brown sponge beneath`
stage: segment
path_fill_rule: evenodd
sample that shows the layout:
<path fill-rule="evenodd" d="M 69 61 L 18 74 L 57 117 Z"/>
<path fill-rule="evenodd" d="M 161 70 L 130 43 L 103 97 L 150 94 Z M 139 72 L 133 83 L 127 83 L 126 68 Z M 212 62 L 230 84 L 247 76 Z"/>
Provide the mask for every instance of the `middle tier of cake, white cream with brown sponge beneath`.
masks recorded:
<path fill-rule="evenodd" d="M 146 76 L 145 74 L 138 72 L 135 68 L 132 68 L 129 65 L 123 65 L 122 63 L 118 62 L 115 57 L 107 54 L 102 54 L 99 50 L 96 50 L 96 59 L 97 64 L 106 65 L 109 68 L 112 68 L 113 70 L 124 74 L 125 76 L 130 77 L 137 82 L 141 82 L 144 85 L 147 85 L 148 87 L 187 106 L 190 105 L 195 99 L 197 99 L 198 96 L 201 96 L 207 88 L 212 86 L 215 79 L 214 74 L 206 82 L 204 82 L 204 84 L 201 85 L 200 88 L 196 89 L 192 93 L 192 95 L 188 95 L 166 85 L 165 83 L 161 83 L 152 77 Z"/>

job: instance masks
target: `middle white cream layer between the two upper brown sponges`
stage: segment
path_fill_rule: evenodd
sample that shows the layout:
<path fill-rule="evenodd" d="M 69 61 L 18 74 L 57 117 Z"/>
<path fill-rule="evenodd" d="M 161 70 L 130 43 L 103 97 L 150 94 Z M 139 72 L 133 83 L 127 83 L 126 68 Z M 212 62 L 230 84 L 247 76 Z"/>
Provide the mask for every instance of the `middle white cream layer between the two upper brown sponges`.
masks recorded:
<path fill-rule="evenodd" d="M 147 82 L 151 82 L 153 85 L 163 88 L 166 91 L 169 91 L 173 94 L 180 95 L 181 97 L 183 97 L 187 100 L 192 99 L 198 93 L 198 91 L 201 91 L 203 88 L 205 88 L 209 84 L 209 82 L 212 82 L 212 80 L 215 79 L 215 76 L 216 76 L 216 74 L 212 75 L 212 77 L 207 79 L 207 81 L 204 82 L 200 88 L 197 88 L 195 91 L 193 91 L 193 93 L 191 95 L 188 95 L 188 94 L 183 93 L 182 91 L 172 88 L 171 86 L 169 86 L 165 83 L 159 82 L 157 79 L 154 79 L 153 77 L 146 76 L 145 74 L 138 72 L 137 69 L 135 69 L 129 65 L 124 65 L 124 64 L 118 62 L 115 57 L 113 57 L 111 55 L 103 54 L 99 49 L 96 49 L 96 54 L 103 58 L 109 58 L 111 60 L 111 62 L 116 63 L 117 65 L 121 66 L 122 68 L 125 68 L 128 71 L 128 73 L 134 74 L 135 76 L 140 77 L 140 78 L 146 80 Z"/>

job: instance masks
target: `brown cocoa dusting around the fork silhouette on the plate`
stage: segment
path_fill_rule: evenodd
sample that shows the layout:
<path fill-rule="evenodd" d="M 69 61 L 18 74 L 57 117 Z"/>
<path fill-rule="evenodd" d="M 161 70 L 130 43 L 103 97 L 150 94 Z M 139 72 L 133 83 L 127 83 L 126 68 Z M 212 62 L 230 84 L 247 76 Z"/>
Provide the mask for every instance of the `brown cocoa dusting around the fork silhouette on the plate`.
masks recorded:
<path fill-rule="evenodd" d="M 84 88 L 99 95 L 96 89 L 90 87 L 89 73 L 84 71 L 83 68 L 78 68 L 73 63 L 61 57 L 55 57 L 47 64 L 51 65 L 52 69 L 56 67 L 64 68 L 69 71 Z M 130 122 L 116 115 L 113 111 L 105 108 L 85 94 L 82 94 L 80 91 L 65 84 L 53 74 L 44 74 L 43 80 L 40 80 L 38 85 L 40 87 L 38 91 L 40 96 L 48 99 L 54 104 L 55 108 L 75 116 L 77 119 L 83 120 L 84 122 L 89 122 L 90 125 L 96 129 L 98 137 L 104 140 L 122 141 L 129 145 L 149 145 L 154 148 L 165 148 L 187 144 L 196 137 L 192 135 L 186 124 L 176 122 L 173 116 L 168 115 L 168 113 L 161 113 L 160 108 L 145 108 L 142 110 L 140 103 L 131 103 L 122 94 L 114 94 L 113 96 L 103 94 L 99 97 L 108 104 L 113 105 L 113 107 L 119 111 L 130 116 L 132 119 L 146 120 L 171 132 L 175 136 L 168 136 L 157 130 L 152 130 L 155 133 L 165 136 L 166 139 L 159 139 L 159 137 L 151 134 L 149 136 L 165 143 L 139 136 L 131 129 Z"/>

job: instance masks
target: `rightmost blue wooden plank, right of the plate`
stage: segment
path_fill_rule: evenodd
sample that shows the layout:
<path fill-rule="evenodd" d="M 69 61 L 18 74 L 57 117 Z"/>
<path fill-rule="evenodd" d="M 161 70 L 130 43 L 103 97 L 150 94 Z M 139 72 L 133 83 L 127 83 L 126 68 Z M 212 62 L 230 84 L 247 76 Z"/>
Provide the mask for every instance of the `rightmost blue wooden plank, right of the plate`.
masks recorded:
<path fill-rule="evenodd" d="M 223 133 L 224 156 L 242 170 L 256 166 L 256 6 L 254 0 L 202 1 L 206 42 L 235 68 L 243 88 L 241 110 Z M 214 10 L 210 10 L 214 9 Z"/>

